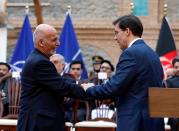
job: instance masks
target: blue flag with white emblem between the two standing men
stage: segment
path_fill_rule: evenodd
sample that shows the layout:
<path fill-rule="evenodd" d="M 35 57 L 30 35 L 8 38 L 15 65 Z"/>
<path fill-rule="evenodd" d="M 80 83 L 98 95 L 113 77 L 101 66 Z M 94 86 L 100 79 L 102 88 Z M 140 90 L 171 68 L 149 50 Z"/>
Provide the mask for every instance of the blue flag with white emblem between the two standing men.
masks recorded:
<path fill-rule="evenodd" d="M 76 33 L 74 31 L 69 13 L 67 13 L 66 20 L 59 41 L 60 41 L 60 46 L 57 48 L 56 52 L 63 55 L 65 58 L 65 62 L 66 62 L 65 72 L 68 72 L 69 65 L 73 60 L 79 60 L 82 61 L 84 65 L 81 77 L 83 79 L 86 79 L 87 70 L 83 62 L 83 56 L 79 48 Z"/>

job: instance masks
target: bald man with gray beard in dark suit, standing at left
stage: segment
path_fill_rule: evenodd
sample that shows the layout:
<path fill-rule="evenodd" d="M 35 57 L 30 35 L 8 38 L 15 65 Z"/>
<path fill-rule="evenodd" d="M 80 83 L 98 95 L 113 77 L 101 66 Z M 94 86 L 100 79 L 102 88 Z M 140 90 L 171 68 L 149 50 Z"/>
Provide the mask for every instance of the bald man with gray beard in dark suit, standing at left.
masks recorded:
<path fill-rule="evenodd" d="M 64 81 L 49 61 L 59 46 L 52 26 L 37 26 L 34 43 L 35 49 L 22 70 L 17 131 L 64 131 L 64 96 L 83 98 L 85 91 L 81 86 Z"/>

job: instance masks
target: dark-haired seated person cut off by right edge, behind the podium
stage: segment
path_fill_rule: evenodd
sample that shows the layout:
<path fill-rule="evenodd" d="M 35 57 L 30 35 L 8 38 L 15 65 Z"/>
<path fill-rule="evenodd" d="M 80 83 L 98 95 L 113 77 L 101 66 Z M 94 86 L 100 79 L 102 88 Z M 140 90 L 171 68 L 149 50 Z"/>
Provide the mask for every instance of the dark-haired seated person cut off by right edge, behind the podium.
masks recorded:
<path fill-rule="evenodd" d="M 173 59 L 172 64 L 173 74 L 172 77 L 165 81 L 165 86 L 168 88 L 179 88 L 179 56 Z M 169 118 L 168 124 L 171 126 L 171 131 L 178 131 L 178 118 Z"/>

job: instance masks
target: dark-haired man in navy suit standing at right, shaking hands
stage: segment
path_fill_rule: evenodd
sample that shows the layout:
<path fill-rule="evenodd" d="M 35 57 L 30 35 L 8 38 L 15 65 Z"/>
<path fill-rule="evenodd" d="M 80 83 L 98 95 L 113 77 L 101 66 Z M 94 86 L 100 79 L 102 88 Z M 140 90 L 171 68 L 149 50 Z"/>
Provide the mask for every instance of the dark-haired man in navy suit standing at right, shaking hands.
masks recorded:
<path fill-rule="evenodd" d="M 116 97 L 117 131 L 163 131 L 163 119 L 150 118 L 148 111 L 148 88 L 162 86 L 160 60 L 141 38 L 143 26 L 136 16 L 122 16 L 113 24 L 123 51 L 116 72 L 106 84 L 83 87 L 89 98 Z"/>

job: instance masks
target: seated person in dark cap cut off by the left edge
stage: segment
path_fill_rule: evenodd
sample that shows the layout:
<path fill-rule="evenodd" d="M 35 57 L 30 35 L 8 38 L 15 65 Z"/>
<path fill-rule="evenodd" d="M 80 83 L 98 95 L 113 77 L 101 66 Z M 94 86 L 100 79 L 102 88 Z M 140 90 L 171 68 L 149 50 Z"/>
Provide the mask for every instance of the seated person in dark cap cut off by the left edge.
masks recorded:
<path fill-rule="evenodd" d="M 0 62 L 0 91 L 2 93 L 2 102 L 3 102 L 3 114 L 6 116 L 9 113 L 9 100 L 8 100 L 8 81 L 7 78 L 11 76 L 10 65 L 5 62 Z"/>

